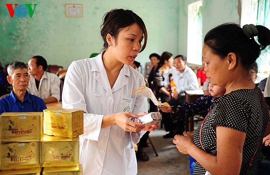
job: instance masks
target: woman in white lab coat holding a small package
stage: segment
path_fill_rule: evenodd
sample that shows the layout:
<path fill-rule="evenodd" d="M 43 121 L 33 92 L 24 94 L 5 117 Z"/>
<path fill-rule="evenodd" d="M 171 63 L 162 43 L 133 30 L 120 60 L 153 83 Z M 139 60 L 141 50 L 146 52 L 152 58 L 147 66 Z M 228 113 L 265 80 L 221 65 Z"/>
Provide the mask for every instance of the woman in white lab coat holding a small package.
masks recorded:
<path fill-rule="evenodd" d="M 114 9 L 104 15 L 101 35 L 104 51 L 100 55 L 69 66 L 62 104 L 84 111 L 80 136 L 84 175 L 135 175 L 133 143 L 146 130 L 157 128 L 157 124 L 145 126 L 131 119 L 147 111 L 147 99 L 131 94 L 145 84 L 144 78 L 129 66 L 144 50 L 147 31 L 133 11 Z"/>

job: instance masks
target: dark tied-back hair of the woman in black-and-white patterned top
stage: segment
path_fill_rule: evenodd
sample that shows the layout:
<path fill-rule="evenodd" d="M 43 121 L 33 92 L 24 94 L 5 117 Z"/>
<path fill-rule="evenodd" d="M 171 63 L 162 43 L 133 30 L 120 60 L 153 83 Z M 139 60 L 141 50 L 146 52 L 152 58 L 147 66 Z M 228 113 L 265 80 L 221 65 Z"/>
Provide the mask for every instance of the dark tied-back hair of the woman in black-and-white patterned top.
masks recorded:
<path fill-rule="evenodd" d="M 250 65 L 260 56 L 261 51 L 270 45 L 270 30 L 264 26 L 256 26 L 256 28 L 259 44 L 255 41 L 254 36 L 246 36 L 243 29 L 234 23 L 222 24 L 208 31 L 204 44 L 221 58 L 225 58 L 230 52 L 235 53 L 242 66 L 249 70 Z"/>

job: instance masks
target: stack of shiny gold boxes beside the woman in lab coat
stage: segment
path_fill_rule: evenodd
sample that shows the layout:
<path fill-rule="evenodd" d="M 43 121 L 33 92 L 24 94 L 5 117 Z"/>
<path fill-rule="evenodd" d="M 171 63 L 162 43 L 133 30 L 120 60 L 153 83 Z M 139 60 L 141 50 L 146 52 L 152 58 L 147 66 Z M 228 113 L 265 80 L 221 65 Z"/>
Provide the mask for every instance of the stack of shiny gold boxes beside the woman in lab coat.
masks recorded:
<path fill-rule="evenodd" d="M 49 108 L 0 116 L 0 175 L 82 175 L 83 111 Z"/>

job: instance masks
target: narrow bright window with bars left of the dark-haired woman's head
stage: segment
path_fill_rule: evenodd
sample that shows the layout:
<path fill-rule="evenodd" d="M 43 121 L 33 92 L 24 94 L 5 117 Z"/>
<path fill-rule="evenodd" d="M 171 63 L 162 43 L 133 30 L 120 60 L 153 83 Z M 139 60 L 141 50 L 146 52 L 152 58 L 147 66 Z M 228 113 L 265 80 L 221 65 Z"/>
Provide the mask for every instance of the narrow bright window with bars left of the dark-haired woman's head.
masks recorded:
<path fill-rule="evenodd" d="M 202 0 L 188 6 L 188 61 L 202 64 Z"/>

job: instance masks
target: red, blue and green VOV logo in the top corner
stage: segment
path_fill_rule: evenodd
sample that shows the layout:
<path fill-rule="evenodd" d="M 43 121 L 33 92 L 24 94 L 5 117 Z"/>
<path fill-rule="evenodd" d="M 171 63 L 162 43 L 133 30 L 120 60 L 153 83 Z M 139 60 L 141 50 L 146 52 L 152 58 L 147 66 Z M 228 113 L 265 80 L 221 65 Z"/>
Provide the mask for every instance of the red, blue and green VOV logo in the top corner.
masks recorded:
<path fill-rule="evenodd" d="M 6 3 L 5 5 L 8 9 L 8 12 L 9 12 L 9 15 L 11 18 L 13 18 L 14 12 L 15 12 L 15 15 L 19 18 L 26 17 L 28 13 L 29 13 L 30 18 L 32 18 L 37 3 L 34 3 L 34 9 L 32 9 L 32 4 L 30 4 L 30 3 L 19 4 L 19 5 L 18 5 L 18 3 L 15 3 L 14 9 L 12 7 L 12 5 L 13 5 L 12 3 Z"/>

